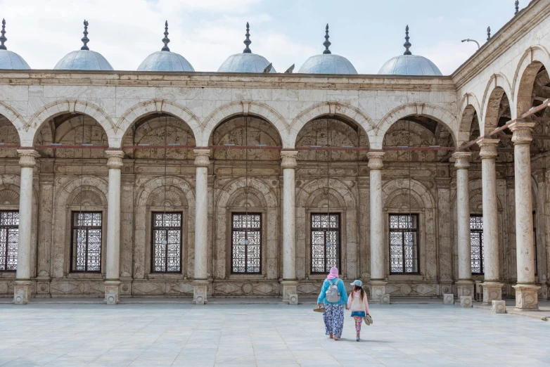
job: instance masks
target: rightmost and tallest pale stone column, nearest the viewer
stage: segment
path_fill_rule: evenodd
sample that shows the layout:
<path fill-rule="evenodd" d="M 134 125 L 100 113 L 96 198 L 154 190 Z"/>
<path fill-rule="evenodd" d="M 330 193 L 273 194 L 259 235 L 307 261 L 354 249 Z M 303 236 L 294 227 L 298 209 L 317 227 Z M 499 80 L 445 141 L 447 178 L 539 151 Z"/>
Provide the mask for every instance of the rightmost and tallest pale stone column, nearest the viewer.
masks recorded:
<path fill-rule="evenodd" d="M 534 122 L 514 122 L 510 125 L 513 133 L 513 166 L 516 181 L 516 262 L 518 284 L 516 289 L 516 310 L 538 311 L 535 285 L 535 245 L 533 243 L 533 217 L 531 193 L 530 143 Z"/>

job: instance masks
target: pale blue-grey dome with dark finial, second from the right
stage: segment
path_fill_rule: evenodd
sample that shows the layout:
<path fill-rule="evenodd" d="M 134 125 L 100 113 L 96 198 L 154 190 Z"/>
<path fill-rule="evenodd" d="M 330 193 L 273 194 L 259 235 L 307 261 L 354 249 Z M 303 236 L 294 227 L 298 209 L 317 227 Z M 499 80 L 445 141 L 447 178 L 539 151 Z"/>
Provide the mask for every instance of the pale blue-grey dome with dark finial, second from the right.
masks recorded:
<path fill-rule="evenodd" d="M 328 46 L 331 46 L 331 42 L 328 41 L 328 24 L 325 32 L 325 41 L 323 42 L 325 51 L 321 55 L 308 58 L 298 72 L 304 74 L 357 74 L 357 70 L 350 63 L 350 60 L 343 56 L 334 55 L 328 49 Z"/>

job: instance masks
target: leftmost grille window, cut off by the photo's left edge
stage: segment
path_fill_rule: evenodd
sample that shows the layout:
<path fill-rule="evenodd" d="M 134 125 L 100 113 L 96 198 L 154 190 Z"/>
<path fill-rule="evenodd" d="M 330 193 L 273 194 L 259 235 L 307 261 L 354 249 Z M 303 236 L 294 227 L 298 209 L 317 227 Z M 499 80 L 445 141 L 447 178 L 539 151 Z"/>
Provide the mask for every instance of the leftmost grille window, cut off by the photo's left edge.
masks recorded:
<path fill-rule="evenodd" d="M 19 212 L 0 212 L 0 271 L 17 270 Z"/>

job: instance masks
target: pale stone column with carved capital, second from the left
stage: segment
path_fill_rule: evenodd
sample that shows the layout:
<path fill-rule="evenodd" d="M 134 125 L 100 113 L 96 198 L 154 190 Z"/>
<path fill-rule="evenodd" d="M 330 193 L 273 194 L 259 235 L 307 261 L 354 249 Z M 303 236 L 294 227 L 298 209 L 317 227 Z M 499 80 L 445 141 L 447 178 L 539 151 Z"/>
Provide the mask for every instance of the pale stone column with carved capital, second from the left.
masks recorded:
<path fill-rule="evenodd" d="M 117 304 L 120 298 L 120 173 L 124 152 L 105 150 L 105 155 L 109 167 L 105 302 Z"/>

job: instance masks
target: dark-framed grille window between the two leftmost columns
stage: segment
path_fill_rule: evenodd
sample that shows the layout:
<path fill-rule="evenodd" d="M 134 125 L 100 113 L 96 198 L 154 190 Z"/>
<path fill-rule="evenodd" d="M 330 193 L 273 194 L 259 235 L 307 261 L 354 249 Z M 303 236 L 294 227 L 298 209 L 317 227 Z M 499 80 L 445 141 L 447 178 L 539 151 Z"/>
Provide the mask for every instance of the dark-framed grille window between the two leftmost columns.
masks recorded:
<path fill-rule="evenodd" d="M 71 271 L 101 272 L 101 212 L 72 212 Z"/>

